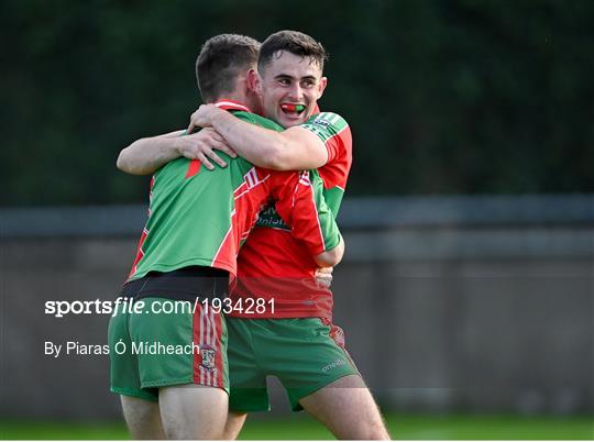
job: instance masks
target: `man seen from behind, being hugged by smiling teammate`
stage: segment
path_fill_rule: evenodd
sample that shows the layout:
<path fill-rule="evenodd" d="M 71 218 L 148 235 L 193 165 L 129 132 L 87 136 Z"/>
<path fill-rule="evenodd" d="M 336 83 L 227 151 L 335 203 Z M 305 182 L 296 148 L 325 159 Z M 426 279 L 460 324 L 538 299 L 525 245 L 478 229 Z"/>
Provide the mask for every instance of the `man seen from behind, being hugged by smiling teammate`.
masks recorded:
<path fill-rule="evenodd" d="M 238 35 L 207 42 L 198 58 L 199 87 L 210 97 L 206 101 L 232 118 L 282 130 L 250 111 L 258 106 L 248 85 L 254 47 L 257 42 Z M 222 85 L 209 67 L 222 70 Z M 187 137 L 180 135 L 158 140 Z M 108 332 L 111 390 L 121 395 L 135 439 L 221 437 L 229 391 L 222 313 L 232 309 L 223 301 L 229 277 L 237 276 L 240 244 L 263 205 L 273 201 L 319 265 L 342 257 L 342 239 L 316 175 L 275 173 L 239 157 L 228 162 L 205 170 L 197 159 L 177 158 L 153 176 L 148 220 L 121 292 L 135 309 L 117 311 Z"/>

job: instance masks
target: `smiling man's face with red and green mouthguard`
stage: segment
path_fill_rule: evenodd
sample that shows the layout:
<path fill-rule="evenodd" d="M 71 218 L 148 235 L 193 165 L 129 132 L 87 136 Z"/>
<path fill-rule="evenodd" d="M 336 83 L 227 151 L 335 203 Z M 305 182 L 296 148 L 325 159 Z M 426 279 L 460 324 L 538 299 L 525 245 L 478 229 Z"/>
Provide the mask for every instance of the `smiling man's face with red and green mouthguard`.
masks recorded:
<path fill-rule="evenodd" d="M 275 54 L 260 74 L 264 114 L 284 128 L 311 117 L 327 82 L 316 60 L 286 51 Z"/>

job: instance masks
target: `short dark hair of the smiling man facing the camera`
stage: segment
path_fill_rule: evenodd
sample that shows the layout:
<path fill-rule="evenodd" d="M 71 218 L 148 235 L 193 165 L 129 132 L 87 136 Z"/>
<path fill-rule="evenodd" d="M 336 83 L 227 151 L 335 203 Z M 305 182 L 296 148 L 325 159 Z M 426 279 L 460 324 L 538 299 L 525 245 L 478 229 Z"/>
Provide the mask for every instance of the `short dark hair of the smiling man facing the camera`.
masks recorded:
<path fill-rule="evenodd" d="M 275 54 L 280 51 L 289 52 L 301 57 L 311 57 L 323 71 L 323 63 L 328 53 L 320 42 L 299 31 L 278 31 L 270 35 L 260 47 L 257 69 L 260 73 L 268 65 Z"/>

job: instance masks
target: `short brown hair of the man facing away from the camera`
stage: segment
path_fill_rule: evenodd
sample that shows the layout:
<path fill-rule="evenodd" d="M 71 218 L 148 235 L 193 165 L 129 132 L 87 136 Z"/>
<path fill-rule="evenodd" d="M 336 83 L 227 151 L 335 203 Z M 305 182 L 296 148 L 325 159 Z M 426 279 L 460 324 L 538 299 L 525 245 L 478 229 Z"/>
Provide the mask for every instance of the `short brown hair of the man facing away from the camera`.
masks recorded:
<path fill-rule="evenodd" d="M 238 76 L 257 63 L 260 42 L 238 34 L 207 40 L 196 59 L 196 80 L 204 102 L 213 102 L 235 88 Z"/>

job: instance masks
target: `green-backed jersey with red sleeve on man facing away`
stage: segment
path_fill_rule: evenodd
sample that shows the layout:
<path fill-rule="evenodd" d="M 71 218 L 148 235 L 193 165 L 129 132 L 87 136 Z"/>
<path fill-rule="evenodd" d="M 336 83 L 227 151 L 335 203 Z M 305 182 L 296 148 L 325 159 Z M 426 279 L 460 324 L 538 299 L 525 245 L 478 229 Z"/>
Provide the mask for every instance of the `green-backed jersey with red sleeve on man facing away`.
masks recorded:
<path fill-rule="evenodd" d="M 232 102 L 217 106 L 253 124 L 279 125 Z M 148 221 L 142 233 L 129 279 L 148 272 L 209 266 L 237 275 L 237 256 L 264 206 L 276 210 L 292 232 L 319 254 L 339 244 L 340 233 L 321 198 L 322 183 L 308 172 L 277 173 L 230 158 L 228 166 L 208 170 L 196 159 L 177 158 L 151 181 Z M 316 195 L 319 194 L 319 195 Z"/>

